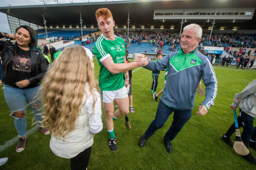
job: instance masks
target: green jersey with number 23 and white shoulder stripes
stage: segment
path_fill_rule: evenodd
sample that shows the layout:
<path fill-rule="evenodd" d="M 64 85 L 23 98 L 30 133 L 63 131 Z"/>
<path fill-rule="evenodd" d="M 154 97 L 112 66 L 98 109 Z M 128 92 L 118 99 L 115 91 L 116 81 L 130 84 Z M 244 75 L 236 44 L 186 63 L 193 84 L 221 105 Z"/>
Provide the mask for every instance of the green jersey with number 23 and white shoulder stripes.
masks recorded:
<path fill-rule="evenodd" d="M 115 41 L 108 40 L 101 35 L 96 41 L 93 53 L 100 65 L 99 86 L 100 90 L 113 91 L 124 87 L 123 73 L 112 74 L 101 62 L 112 57 L 114 63 L 124 63 L 125 42 L 122 38 L 115 36 Z"/>

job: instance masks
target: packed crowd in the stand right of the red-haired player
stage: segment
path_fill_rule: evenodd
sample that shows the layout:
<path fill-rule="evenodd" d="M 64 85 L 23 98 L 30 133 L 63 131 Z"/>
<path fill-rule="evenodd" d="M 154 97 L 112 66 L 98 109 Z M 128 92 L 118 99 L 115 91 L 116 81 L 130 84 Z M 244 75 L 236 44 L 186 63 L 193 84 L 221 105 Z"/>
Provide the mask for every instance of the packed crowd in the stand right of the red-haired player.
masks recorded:
<path fill-rule="evenodd" d="M 165 45 L 169 46 L 169 51 L 174 51 L 178 44 L 180 44 L 180 36 L 177 32 L 173 31 L 130 31 L 129 35 L 127 32 L 115 31 L 115 35 L 122 37 L 126 40 L 126 42 L 130 42 L 132 44 L 137 43 L 141 45 L 142 42 L 147 42 L 150 46 L 152 45 L 152 51 L 163 50 Z M 237 59 L 236 65 L 239 64 L 240 58 L 245 58 L 247 62 L 243 62 L 241 59 L 241 65 L 245 68 L 250 65 L 250 67 L 254 64 L 256 56 L 256 50 L 252 51 L 247 48 L 256 48 L 256 36 L 245 35 L 244 33 L 224 33 L 224 34 L 212 34 L 210 38 L 210 33 L 204 33 L 202 35 L 202 40 L 198 45 L 198 49 L 202 48 L 202 46 L 216 46 L 216 47 L 224 47 L 224 51 L 228 52 L 230 56 L 228 57 L 219 57 L 215 54 L 206 53 L 206 57 L 212 63 L 215 59 L 215 63 L 212 64 L 221 64 L 222 66 L 229 66 L 232 60 Z M 210 38 L 210 41 L 209 41 Z M 234 50 L 232 48 L 235 48 Z M 237 49 L 239 48 L 239 50 Z M 247 53 L 247 54 L 246 54 Z M 248 57 L 245 57 L 248 55 Z M 250 57 L 251 56 L 251 57 Z M 244 60 L 245 60 L 244 59 Z M 250 68 L 249 67 L 249 68 Z"/>

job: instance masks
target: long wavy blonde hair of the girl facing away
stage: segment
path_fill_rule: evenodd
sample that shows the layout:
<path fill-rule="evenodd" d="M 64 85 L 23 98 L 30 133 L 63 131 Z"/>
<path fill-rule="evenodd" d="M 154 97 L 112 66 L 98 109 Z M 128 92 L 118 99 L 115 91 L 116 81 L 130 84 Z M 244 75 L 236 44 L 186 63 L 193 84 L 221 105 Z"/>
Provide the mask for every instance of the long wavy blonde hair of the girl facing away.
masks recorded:
<path fill-rule="evenodd" d="M 72 46 L 62 51 L 45 74 L 41 87 L 43 126 L 58 138 L 74 130 L 76 120 L 85 102 L 82 102 L 86 84 L 93 95 L 94 113 L 98 81 L 91 67 L 91 59 L 83 47 Z M 92 116 L 93 116 L 92 113 Z"/>

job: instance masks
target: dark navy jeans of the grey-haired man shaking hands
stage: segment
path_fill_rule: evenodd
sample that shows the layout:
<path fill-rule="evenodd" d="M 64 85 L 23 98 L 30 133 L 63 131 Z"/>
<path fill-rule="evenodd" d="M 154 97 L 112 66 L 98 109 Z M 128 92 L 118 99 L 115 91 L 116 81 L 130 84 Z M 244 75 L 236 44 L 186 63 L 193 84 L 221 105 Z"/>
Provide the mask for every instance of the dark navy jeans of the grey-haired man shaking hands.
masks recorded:
<path fill-rule="evenodd" d="M 146 137 L 151 137 L 158 129 L 162 128 L 168 117 L 172 112 L 174 112 L 172 125 L 164 136 L 164 140 L 166 142 L 171 142 L 191 117 L 191 111 L 192 110 L 179 110 L 171 108 L 163 104 L 163 102 L 160 100 L 156 111 L 156 118 L 151 122 L 145 132 Z"/>

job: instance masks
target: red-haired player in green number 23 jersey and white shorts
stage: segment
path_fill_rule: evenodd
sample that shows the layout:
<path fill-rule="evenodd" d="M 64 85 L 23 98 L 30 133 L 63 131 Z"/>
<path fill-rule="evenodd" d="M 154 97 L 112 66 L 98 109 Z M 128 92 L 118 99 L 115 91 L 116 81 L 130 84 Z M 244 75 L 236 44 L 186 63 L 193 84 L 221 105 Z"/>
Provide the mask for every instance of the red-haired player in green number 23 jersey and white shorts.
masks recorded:
<path fill-rule="evenodd" d="M 129 84 L 128 70 L 148 64 L 147 57 L 140 62 L 126 63 L 125 42 L 114 35 L 115 21 L 111 11 L 100 8 L 95 13 L 102 35 L 95 43 L 93 53 L 100 65 L 99 86 L 102 92 L 105 123 L 109 133 L 109 148 L 117 150 L 113 120 L 129 113 L 129 99 L 126 86 Z M 144 56 L 144 55 L 143 55 Z M 124 81 L 123 74 L 126 79 Z M 114 112 L 113 101 L 118 109 Z"/>

